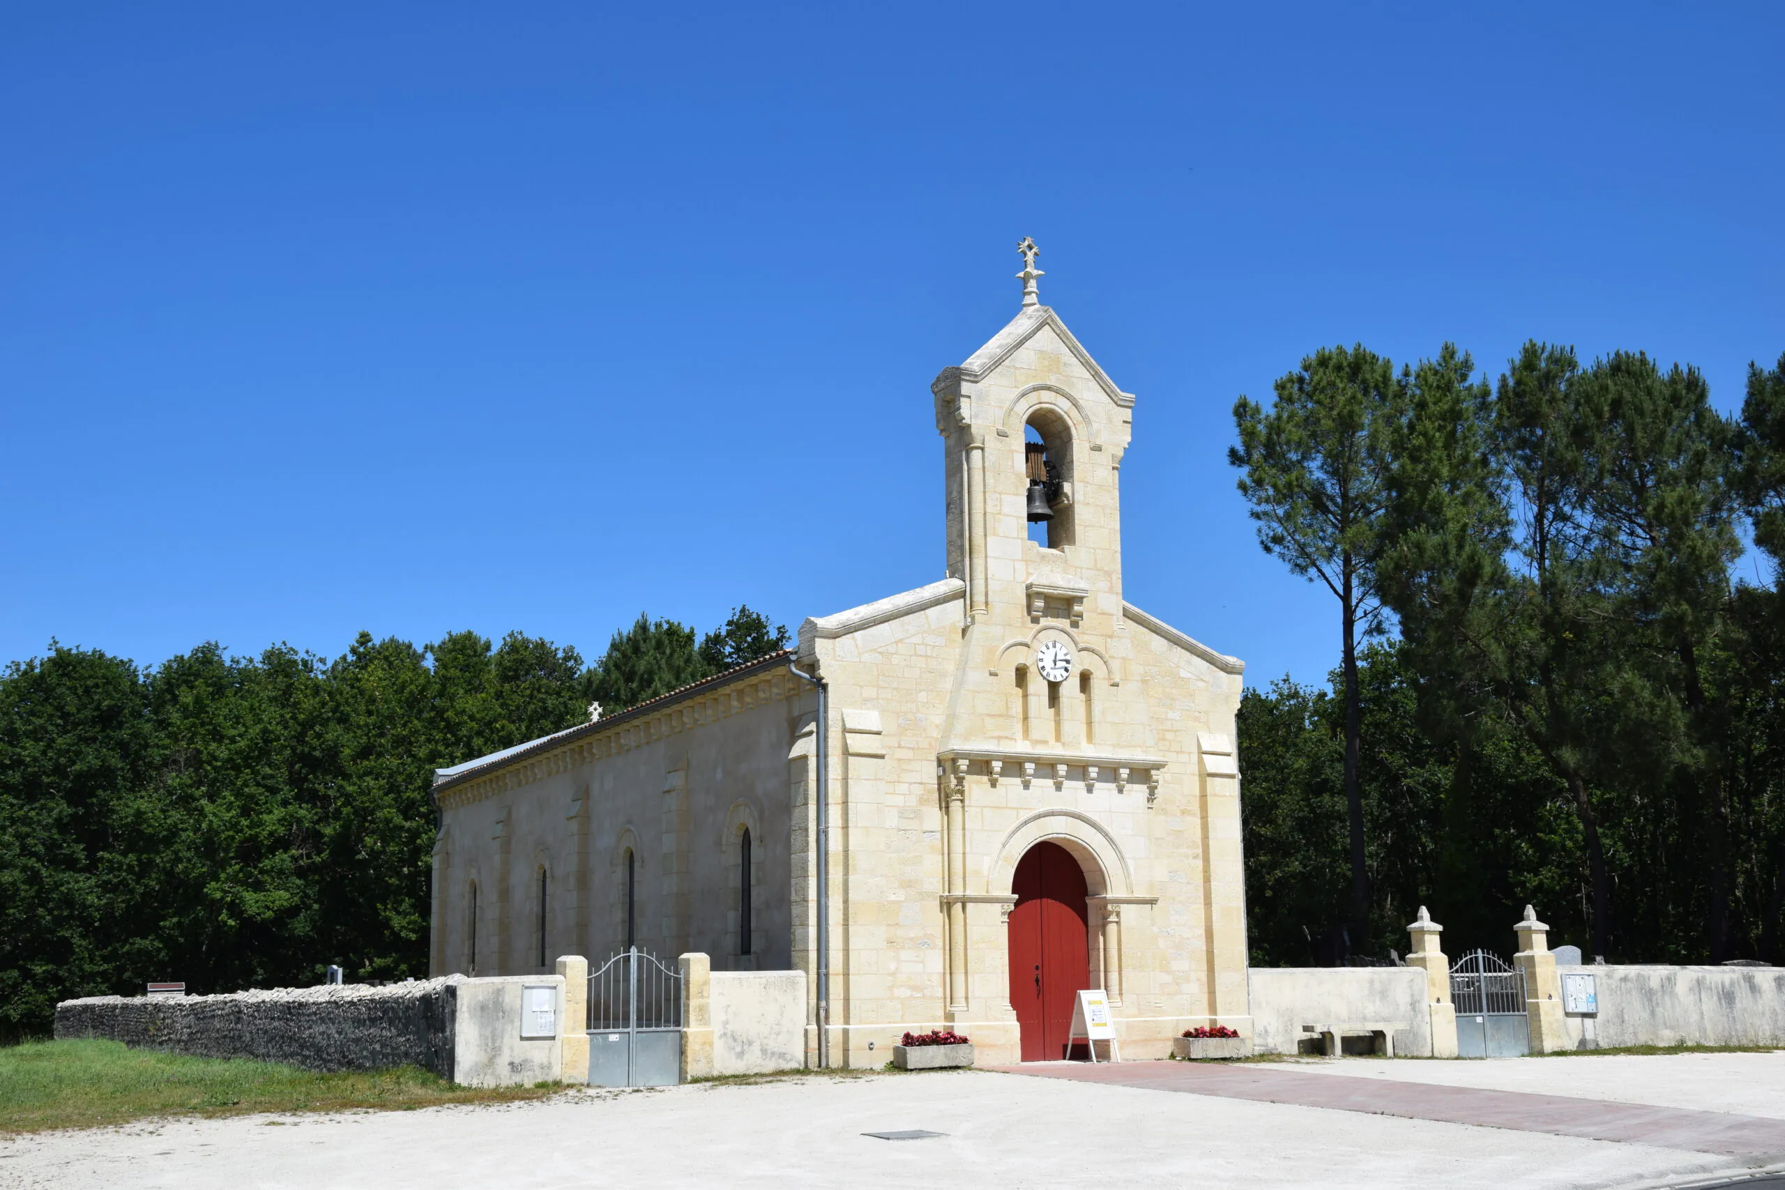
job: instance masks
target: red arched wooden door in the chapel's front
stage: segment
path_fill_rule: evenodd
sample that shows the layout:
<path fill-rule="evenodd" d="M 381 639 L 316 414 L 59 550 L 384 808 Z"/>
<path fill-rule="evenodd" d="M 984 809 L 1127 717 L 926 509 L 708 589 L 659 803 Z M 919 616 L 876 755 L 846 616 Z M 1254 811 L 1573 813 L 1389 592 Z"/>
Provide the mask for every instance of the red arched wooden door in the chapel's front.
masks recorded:
<path fill-rule="evenodd" d="M 1039 842 L 1010 881 L 1010 1006 L 1023 1029 L 1023 1062 L 1067 1056 L 1073 1001 L 1091 987 L 1085 874 L 1071 853 Z"/>

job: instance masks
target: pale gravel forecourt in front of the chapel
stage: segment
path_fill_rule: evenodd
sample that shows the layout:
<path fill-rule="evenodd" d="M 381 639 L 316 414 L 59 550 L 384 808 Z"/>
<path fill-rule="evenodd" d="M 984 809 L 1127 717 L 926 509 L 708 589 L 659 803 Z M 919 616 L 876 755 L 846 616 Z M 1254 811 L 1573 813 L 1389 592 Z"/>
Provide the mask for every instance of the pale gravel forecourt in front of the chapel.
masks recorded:
<path fill-rule="evenodd" d="M 862 1135 L 891 1129 L 946 1135 Z M 991 1072 L 573 1092 L 500 1108 L 145 1122 L 0 1142 L 9 1190 L 1608 1190 L 1755 1169 L 1753 1158 L 1646 1144 Z"/>

